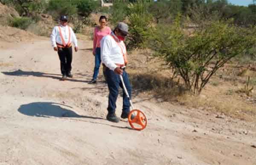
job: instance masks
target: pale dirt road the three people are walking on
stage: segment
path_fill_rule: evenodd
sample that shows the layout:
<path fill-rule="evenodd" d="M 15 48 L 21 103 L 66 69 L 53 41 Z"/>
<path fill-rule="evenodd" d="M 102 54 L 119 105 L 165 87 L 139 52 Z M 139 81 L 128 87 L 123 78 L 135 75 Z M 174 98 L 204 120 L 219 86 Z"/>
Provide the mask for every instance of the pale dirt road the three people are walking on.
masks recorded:
<path fill-rule="evenodd" d="M 256 165 L 256 122 L 138 96 L 145 130 L 105 120 L 102 73 L 87 84 L 91 41 L 79 41 L 67 81 L 49 39 L 0 44 L 0 165 Z"/>

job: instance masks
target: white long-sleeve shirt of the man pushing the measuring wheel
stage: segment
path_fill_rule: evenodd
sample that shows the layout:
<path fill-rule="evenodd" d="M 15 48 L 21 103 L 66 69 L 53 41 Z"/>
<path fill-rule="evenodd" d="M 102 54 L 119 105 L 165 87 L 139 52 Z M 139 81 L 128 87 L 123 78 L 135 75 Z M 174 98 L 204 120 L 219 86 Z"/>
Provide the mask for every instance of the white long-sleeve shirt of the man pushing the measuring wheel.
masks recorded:
<path fill-rule="evenodd" d="M 115 70 L 117 67 L 116 64 L 125 64 L 123 53 L 126 54 L 126 48 L 123 41 L 120 41 L 113 32 L 111 34 L 113 37 L 115 37 L 118 43 L 111 35 L 107 35 L 103 37 L 100 42 L 100 52 L 102 63 L 105 64 L 109 69 Z"/>

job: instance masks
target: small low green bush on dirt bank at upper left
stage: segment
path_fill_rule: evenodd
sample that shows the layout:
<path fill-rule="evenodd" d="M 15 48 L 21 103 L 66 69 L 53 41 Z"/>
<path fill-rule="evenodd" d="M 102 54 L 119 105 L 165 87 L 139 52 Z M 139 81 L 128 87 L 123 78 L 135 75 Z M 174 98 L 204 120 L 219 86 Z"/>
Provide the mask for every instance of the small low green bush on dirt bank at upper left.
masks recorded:
<path fill-rule="evenodd" d="M 10 22 L 10 26 L 26 30 L 33 20 L 29 17 L 16 17 Z"/>

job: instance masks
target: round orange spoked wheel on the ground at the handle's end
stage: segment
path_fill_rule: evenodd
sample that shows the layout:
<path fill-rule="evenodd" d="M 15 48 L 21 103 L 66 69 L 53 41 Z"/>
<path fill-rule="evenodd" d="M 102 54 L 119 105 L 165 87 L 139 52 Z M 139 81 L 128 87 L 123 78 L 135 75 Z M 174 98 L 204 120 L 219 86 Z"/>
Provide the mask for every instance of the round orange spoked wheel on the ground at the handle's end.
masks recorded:
<path fill-rule="evenodd" d="M 131 115 L 134 115 L 134 118 L 131 119 Z M 146 128 L 148 120 L 145 114 L 139 109 L 133 109 L 128 116 L 128 121 L 131 128 L 136 130 L 143 130 Z"/>

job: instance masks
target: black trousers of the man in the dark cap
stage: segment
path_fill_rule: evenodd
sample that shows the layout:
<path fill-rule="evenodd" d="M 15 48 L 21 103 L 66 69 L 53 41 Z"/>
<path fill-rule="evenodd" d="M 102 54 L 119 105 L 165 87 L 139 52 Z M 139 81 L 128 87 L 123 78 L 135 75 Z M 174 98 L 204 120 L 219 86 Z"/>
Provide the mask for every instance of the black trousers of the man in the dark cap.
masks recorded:
<path fill-rule="evenodd" d="M 61 74 L 67 75 L 72 69 L 72 47 L 58 48 L 58 56 L 61 61 Z"/>

